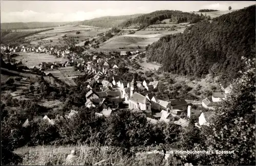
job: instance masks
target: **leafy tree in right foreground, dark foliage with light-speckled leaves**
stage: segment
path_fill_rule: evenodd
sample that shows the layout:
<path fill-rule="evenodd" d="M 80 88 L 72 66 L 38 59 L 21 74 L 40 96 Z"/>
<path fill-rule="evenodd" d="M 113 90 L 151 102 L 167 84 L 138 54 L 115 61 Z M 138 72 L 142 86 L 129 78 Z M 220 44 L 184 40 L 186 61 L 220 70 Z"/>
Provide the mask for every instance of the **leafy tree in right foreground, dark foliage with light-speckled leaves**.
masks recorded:
<path fill-rule="evenodd" d="M 242 59 L 244 59 L 242 57 Z M 195 150 L 233 151 L 233 154 L 190 156 L 194 164 L 255 165 L 255 58 L 232 84 L 232 92 L 215 110 L 210 127 L 202 128 L 205 145 Z"/>

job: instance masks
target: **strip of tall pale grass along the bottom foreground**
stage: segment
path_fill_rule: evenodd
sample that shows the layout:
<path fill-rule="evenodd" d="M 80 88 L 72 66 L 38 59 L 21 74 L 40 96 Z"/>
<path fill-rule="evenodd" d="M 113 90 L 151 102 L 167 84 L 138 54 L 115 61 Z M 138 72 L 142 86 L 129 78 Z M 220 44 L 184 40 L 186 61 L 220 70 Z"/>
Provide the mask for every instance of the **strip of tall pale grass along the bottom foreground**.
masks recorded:
<path fill-rule="evenodd" d="M 66 161 L 71 150 L 76 149 L 75 159 Z M 135 153 L 123 154 L 121 148 L 92 146 L 37 146 L 23 147 L 14 151 L 23 157 L 20 165 L 164 165 L 163 157 L 137 159 Z"/>

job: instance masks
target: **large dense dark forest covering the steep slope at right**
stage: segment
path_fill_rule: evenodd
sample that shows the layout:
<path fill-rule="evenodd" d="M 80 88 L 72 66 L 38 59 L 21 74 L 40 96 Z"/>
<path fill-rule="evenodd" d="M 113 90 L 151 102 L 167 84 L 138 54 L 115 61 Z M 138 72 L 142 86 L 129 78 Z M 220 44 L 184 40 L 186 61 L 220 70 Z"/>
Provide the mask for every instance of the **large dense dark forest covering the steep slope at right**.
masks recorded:
<path fill-rule="evenodd" d="M 162 63 L 162 70 L 203 77 L 238 77 L 241 57 L 255 56 L 255 5 L 200 21 L 183 34 L 166 35 L 147 49 L 148 61 Z"/>

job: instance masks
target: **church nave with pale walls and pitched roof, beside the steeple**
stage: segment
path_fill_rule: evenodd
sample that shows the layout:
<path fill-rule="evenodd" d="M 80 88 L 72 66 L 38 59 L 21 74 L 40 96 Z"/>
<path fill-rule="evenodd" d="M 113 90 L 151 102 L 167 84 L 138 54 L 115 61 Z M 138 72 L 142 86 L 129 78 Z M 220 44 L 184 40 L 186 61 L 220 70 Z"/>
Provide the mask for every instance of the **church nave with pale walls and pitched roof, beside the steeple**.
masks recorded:
<path fill-rule="evenodd" d="M 134 94 L 129 99 L 129 108 L 130 109 L 140 108 L 141 110 L 150 110 L 151 103 L 143 95 L 137 92 L 134 92 Z"/>

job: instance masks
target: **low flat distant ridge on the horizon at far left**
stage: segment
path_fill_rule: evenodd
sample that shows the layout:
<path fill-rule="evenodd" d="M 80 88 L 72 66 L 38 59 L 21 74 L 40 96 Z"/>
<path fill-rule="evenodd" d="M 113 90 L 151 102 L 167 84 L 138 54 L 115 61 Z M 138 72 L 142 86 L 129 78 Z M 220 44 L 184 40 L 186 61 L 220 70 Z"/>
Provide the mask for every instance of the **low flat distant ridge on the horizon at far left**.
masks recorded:
<path fill-rule="evenodd" d="M 1 29 L 34 29 L 65 25 L 67 22 L 8 22 L 1 23 Z"/>

